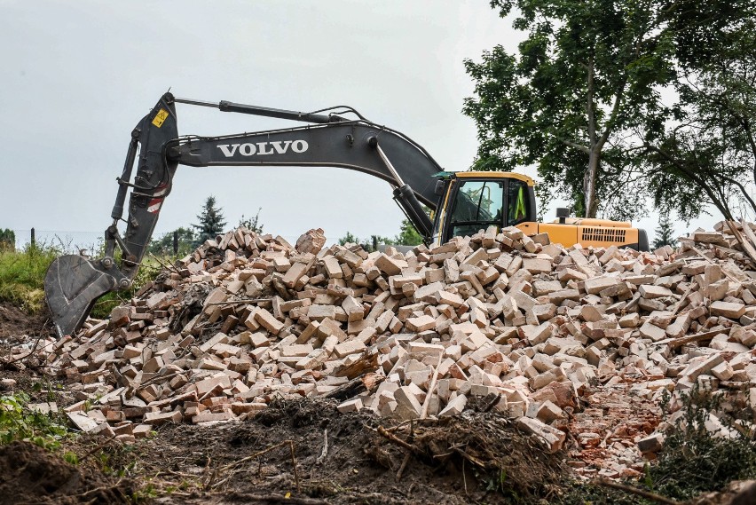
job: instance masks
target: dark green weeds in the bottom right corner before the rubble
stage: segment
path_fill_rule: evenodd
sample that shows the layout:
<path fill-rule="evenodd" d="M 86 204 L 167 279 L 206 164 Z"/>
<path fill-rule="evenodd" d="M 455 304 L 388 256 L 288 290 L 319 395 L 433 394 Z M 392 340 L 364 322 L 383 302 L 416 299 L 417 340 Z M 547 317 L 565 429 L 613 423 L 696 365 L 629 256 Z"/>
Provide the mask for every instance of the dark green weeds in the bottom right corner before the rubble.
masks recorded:
<path fill-rule="evenodd" d="M 721 422 L 736 434 L 733 438 L 714 437 L 706 429 L 710 415 L 721 412 L 722 399 L 697 387 L 681 394 L 682 414 L 667 433 L 658 462 L 649 468 L 655 493 L 687 500 L 698 493 L 719 490 L 732 480 L 756 477 L 756 444 L 751 432 L 735 429 L 727 415 L 721 416 Z M 669 414 L 667 402 L 663 410 Z M 751 411 L 750 406 L 740 410 Z"/>

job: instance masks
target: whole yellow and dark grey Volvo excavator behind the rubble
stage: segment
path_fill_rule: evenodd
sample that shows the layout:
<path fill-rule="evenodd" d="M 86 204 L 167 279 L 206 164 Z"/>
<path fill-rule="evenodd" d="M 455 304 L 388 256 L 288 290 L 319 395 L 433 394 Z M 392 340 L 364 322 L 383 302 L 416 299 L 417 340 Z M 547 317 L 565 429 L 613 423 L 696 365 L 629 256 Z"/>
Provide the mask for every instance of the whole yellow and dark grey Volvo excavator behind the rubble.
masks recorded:
<path fill-rule="evenodd" d="M 179 137 L 177 104 L 307 124 L 220 137 Z M 178 165 L 358 170 L 391 185 L 393 199 L 428 245 L 494 225 L 516 226 L 528 235 L 547 233 L 551 241 L 568 247 L 580 243 L 649 249 L 646 233 L 626 222 L 574 218 L 567 209 L 559 209 L 554 223 L 539 223 L 532 178 L 515 172 L 447 172 L 411 138 L 368 121 L 351 107 L 303 113 L 229 101 L 180 99 L 168 92 L 131 132 L 122 175 L 116 178 L 118 192 L 111 212 L 113 222 L 105 232 L 105 256 L 59 256 L 45 274 L 45 298 L 59 336 L 75 333 L 100 296 L 130 288 Z M 423 205 L 430 209 L 430 216 Z M 118 229 L 122 221 L 126 223 L 123 234 Z"/>

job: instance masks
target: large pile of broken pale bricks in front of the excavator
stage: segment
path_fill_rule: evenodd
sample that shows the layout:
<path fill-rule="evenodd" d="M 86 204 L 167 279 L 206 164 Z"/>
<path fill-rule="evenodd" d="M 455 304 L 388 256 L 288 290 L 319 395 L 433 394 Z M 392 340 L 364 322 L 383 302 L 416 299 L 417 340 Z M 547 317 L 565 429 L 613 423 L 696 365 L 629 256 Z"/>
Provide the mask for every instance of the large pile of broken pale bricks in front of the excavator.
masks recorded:
<path fill-rule="evenodd" d="M 756 405 L 756 272 L 717 254 L 722 233 L 677 254 L 565 249 L 516 228 L 406 255 L 324 243 L 226 233 L 48 347 L 80 388 L 71 420 L 130 440 L 281 397 L 402 420 L 475 399 L 550 451 L 571 434 L 573 466 L 619 477 L 658 451 L 664 391 L 750 391 Z"/>

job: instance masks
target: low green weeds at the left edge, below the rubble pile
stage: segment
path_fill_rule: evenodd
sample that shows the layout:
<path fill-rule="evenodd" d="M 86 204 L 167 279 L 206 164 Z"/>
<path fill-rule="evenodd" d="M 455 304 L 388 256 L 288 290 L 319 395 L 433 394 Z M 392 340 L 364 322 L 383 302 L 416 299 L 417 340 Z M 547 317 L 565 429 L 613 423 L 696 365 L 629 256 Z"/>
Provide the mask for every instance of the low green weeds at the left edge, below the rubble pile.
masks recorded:
<path fill-rule="evenodd" d="M 57 449 L 69 434 L 59 413 L 41 414 L 28 408 L 29 397 L 20 392 L 0 396 L 0 444 L 28 440 L 45 449 Z"/>

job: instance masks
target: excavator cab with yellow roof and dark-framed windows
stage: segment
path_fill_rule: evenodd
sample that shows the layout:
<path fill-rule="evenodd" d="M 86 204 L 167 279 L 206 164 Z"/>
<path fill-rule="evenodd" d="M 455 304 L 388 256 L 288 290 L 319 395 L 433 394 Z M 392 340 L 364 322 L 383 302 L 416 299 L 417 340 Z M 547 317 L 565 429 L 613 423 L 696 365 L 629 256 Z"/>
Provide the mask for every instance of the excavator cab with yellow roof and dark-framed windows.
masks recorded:
<path fill-rule="evenodd" d="M 439 177 L 445 187 L 434 222 L 434 244 L 491 225 L 537 233 L 532 178 L 515 172 L 444 172 Z"/>

